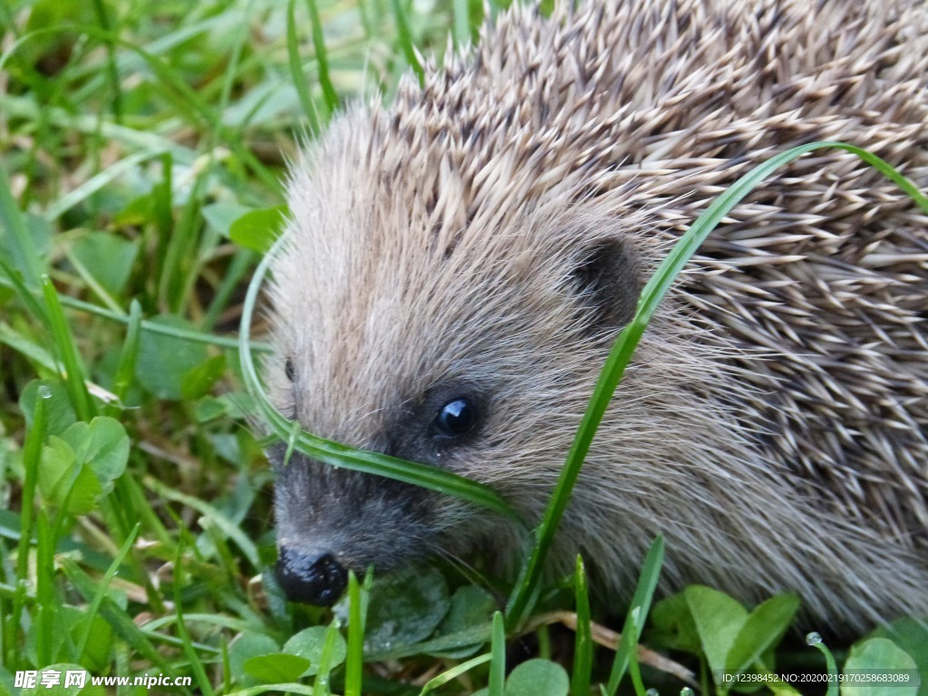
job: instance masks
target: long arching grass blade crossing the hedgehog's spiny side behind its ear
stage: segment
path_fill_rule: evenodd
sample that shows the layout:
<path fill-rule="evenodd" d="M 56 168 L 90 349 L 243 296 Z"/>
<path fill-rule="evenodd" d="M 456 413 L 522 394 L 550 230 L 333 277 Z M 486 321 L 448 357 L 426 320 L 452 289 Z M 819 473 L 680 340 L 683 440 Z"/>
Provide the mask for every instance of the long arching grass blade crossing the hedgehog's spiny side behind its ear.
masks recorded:
<path fill-rule="evenodd" d="M 690 229 L 679 238 L 673 251 L 668 254 L 654 275 L 649 278 L 648 283 L 641 290 L 638 310 L 634 318 L 612 344 L 612 350 L 606 359 L 605 366 L 599 373 L 593 395 L 586 406 L 586 413 L 574 436 L 574 443 L 571 445 L 567 461 L 561 470 L 561 476 L 548 502 L 548 509 L 535 532 L 535 544 L 527 560 L 522 565 L 519 582 L 509 598 L 506 614 L 510 629 L 521 625 L 528 613 L 531 612 L 532 597 L 537 592 L 536 587 L 541 577 L 545 557 L 548 555 L 548 548 L 551 546 L 554 534 L 561 522 L 561 517 L 567 508 L 571 492 L 574 490 L 574 483 L 576 483 L 577 476 L 580 475 L 580 468 L 586 458 L 586 453 L 589 451 L 593 436 L 596 434 L 599 423 L 602 421 L 609 402 L 612 400 L 612 393 L 615 392 L 615 388 L 625 373 L 625 367 L 631 360 L 631 356 L 641 340 L 648 322 L 651 321 L 651 317 L 657 311 L 657 307 L 664 295 L 670 290 L 683 266 L 690 261 L 692 255 L 699 249 L 702 241 L 732 208 L 754 190 L 754 187 L 784 164 L 801 157 L 806 152 L 819 148 L 839 148 L 854 153 L 861 160 L 866 161 L 896 182 L 918 203 L 923 211 L 928 213 L 928 199 L 905 176 L 896 172 L 888 162 L 856 146 L 831 141 L 808 143 L 782 152 L 758 164 L 715 199 L 690 226 Z"/>

